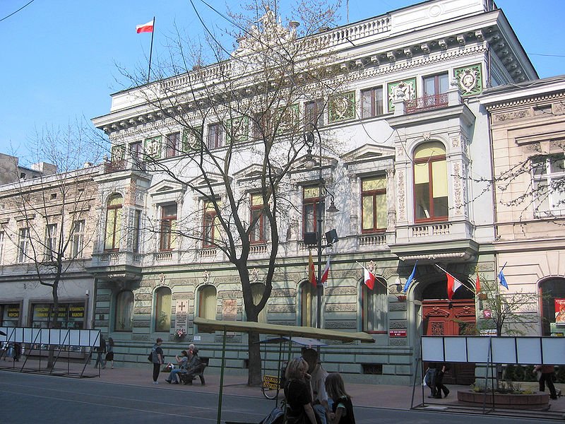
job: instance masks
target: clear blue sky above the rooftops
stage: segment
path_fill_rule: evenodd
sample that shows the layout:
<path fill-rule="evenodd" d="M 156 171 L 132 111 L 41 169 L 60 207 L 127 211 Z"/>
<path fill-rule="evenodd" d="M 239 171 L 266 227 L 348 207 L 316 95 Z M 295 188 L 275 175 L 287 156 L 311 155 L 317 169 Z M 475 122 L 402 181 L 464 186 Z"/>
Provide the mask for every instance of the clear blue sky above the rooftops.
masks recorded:
<path fill-rule="evenodd" d="M 192 1 L 206 25 L 227 25 L 202 0 Z M 223 14 L 228 7 L 237 11 L 244 1 L 206 3 Z M 280 0 L 281 7 L 285 3 Z M 349 21 L 417 3 L 349 0 Z M 340 24 L 347 23 L 345 4 Z M 565 74 L 565 0 L 496 0 L 496 5 L 540 78 Z M 193 37 L 204 35 L 190 0 L 1 0 L 0 153 L 18 155 L 25 163 L 36 131 L 65 129 L 107 114 L 110 95 L 129 84 L 118 66 L 131 71 L 147 66 L 151 35 L 137 34 L 136 25 L 153 16 L 154 57 L 165 53 L 174 25 Z"/>

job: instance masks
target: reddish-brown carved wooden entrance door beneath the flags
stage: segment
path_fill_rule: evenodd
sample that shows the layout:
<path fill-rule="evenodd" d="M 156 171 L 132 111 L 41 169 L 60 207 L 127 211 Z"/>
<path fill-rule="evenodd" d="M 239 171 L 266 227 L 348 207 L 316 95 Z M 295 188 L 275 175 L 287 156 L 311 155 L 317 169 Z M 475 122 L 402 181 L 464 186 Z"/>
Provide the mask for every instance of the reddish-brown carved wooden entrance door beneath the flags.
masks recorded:
<path fill-rule="evenodd" d="M 424 300 L 422 301 L 424 334 L 426 336 L 463 336 L 475 326 L 475 300 Z M 427 364 L 424 363 L 424 369 Z M 444 377 L 446 384 L 472 384 L 475 382 L 475 364 L 451 364 Z"/>

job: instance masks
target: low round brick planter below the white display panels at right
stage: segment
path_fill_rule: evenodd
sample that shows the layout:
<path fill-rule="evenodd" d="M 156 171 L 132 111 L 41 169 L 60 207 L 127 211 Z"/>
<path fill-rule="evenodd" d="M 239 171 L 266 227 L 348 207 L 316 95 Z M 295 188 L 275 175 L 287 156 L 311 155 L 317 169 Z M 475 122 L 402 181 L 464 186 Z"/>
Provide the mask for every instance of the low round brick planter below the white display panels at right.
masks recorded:
<path fill-rule="evenodd" d="M 458 391 L 457 400 L 467 402 L 468 404 L 480 404 L 485 402 L 484 393 L 477 391 Z M 498 406 L 499 408 L 516 408 L 516 409 L 536 409 L 546 407 L 549 404 L 549 394 L 494 394 L 494 404 L 492 393 L 486 395 L 487 406 Z"/>

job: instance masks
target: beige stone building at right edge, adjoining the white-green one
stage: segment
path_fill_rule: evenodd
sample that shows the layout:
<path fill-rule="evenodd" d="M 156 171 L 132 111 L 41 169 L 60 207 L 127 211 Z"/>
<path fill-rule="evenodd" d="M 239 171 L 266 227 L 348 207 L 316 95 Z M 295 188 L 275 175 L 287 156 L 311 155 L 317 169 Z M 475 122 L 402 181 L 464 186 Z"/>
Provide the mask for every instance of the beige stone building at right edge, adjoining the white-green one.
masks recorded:
<path fill-rule="evenodd" d="M 539 293 L 522 311 L 533 335 L 565 332 L 564 96 L 557 76 L 490 88 L 480 100 L 492 127 L 496 261 L 509 293 Z"/>

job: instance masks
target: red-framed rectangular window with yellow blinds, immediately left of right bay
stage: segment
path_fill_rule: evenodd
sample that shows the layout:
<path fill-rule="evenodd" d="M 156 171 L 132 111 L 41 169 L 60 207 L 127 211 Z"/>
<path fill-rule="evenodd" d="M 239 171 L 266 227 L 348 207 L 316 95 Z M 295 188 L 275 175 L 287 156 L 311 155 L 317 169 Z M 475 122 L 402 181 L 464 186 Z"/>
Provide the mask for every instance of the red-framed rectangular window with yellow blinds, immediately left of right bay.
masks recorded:
<path fill-rule="evenodd" d="M 386 177 L 362 179 L 362 232 L 386 230 Z"/>

